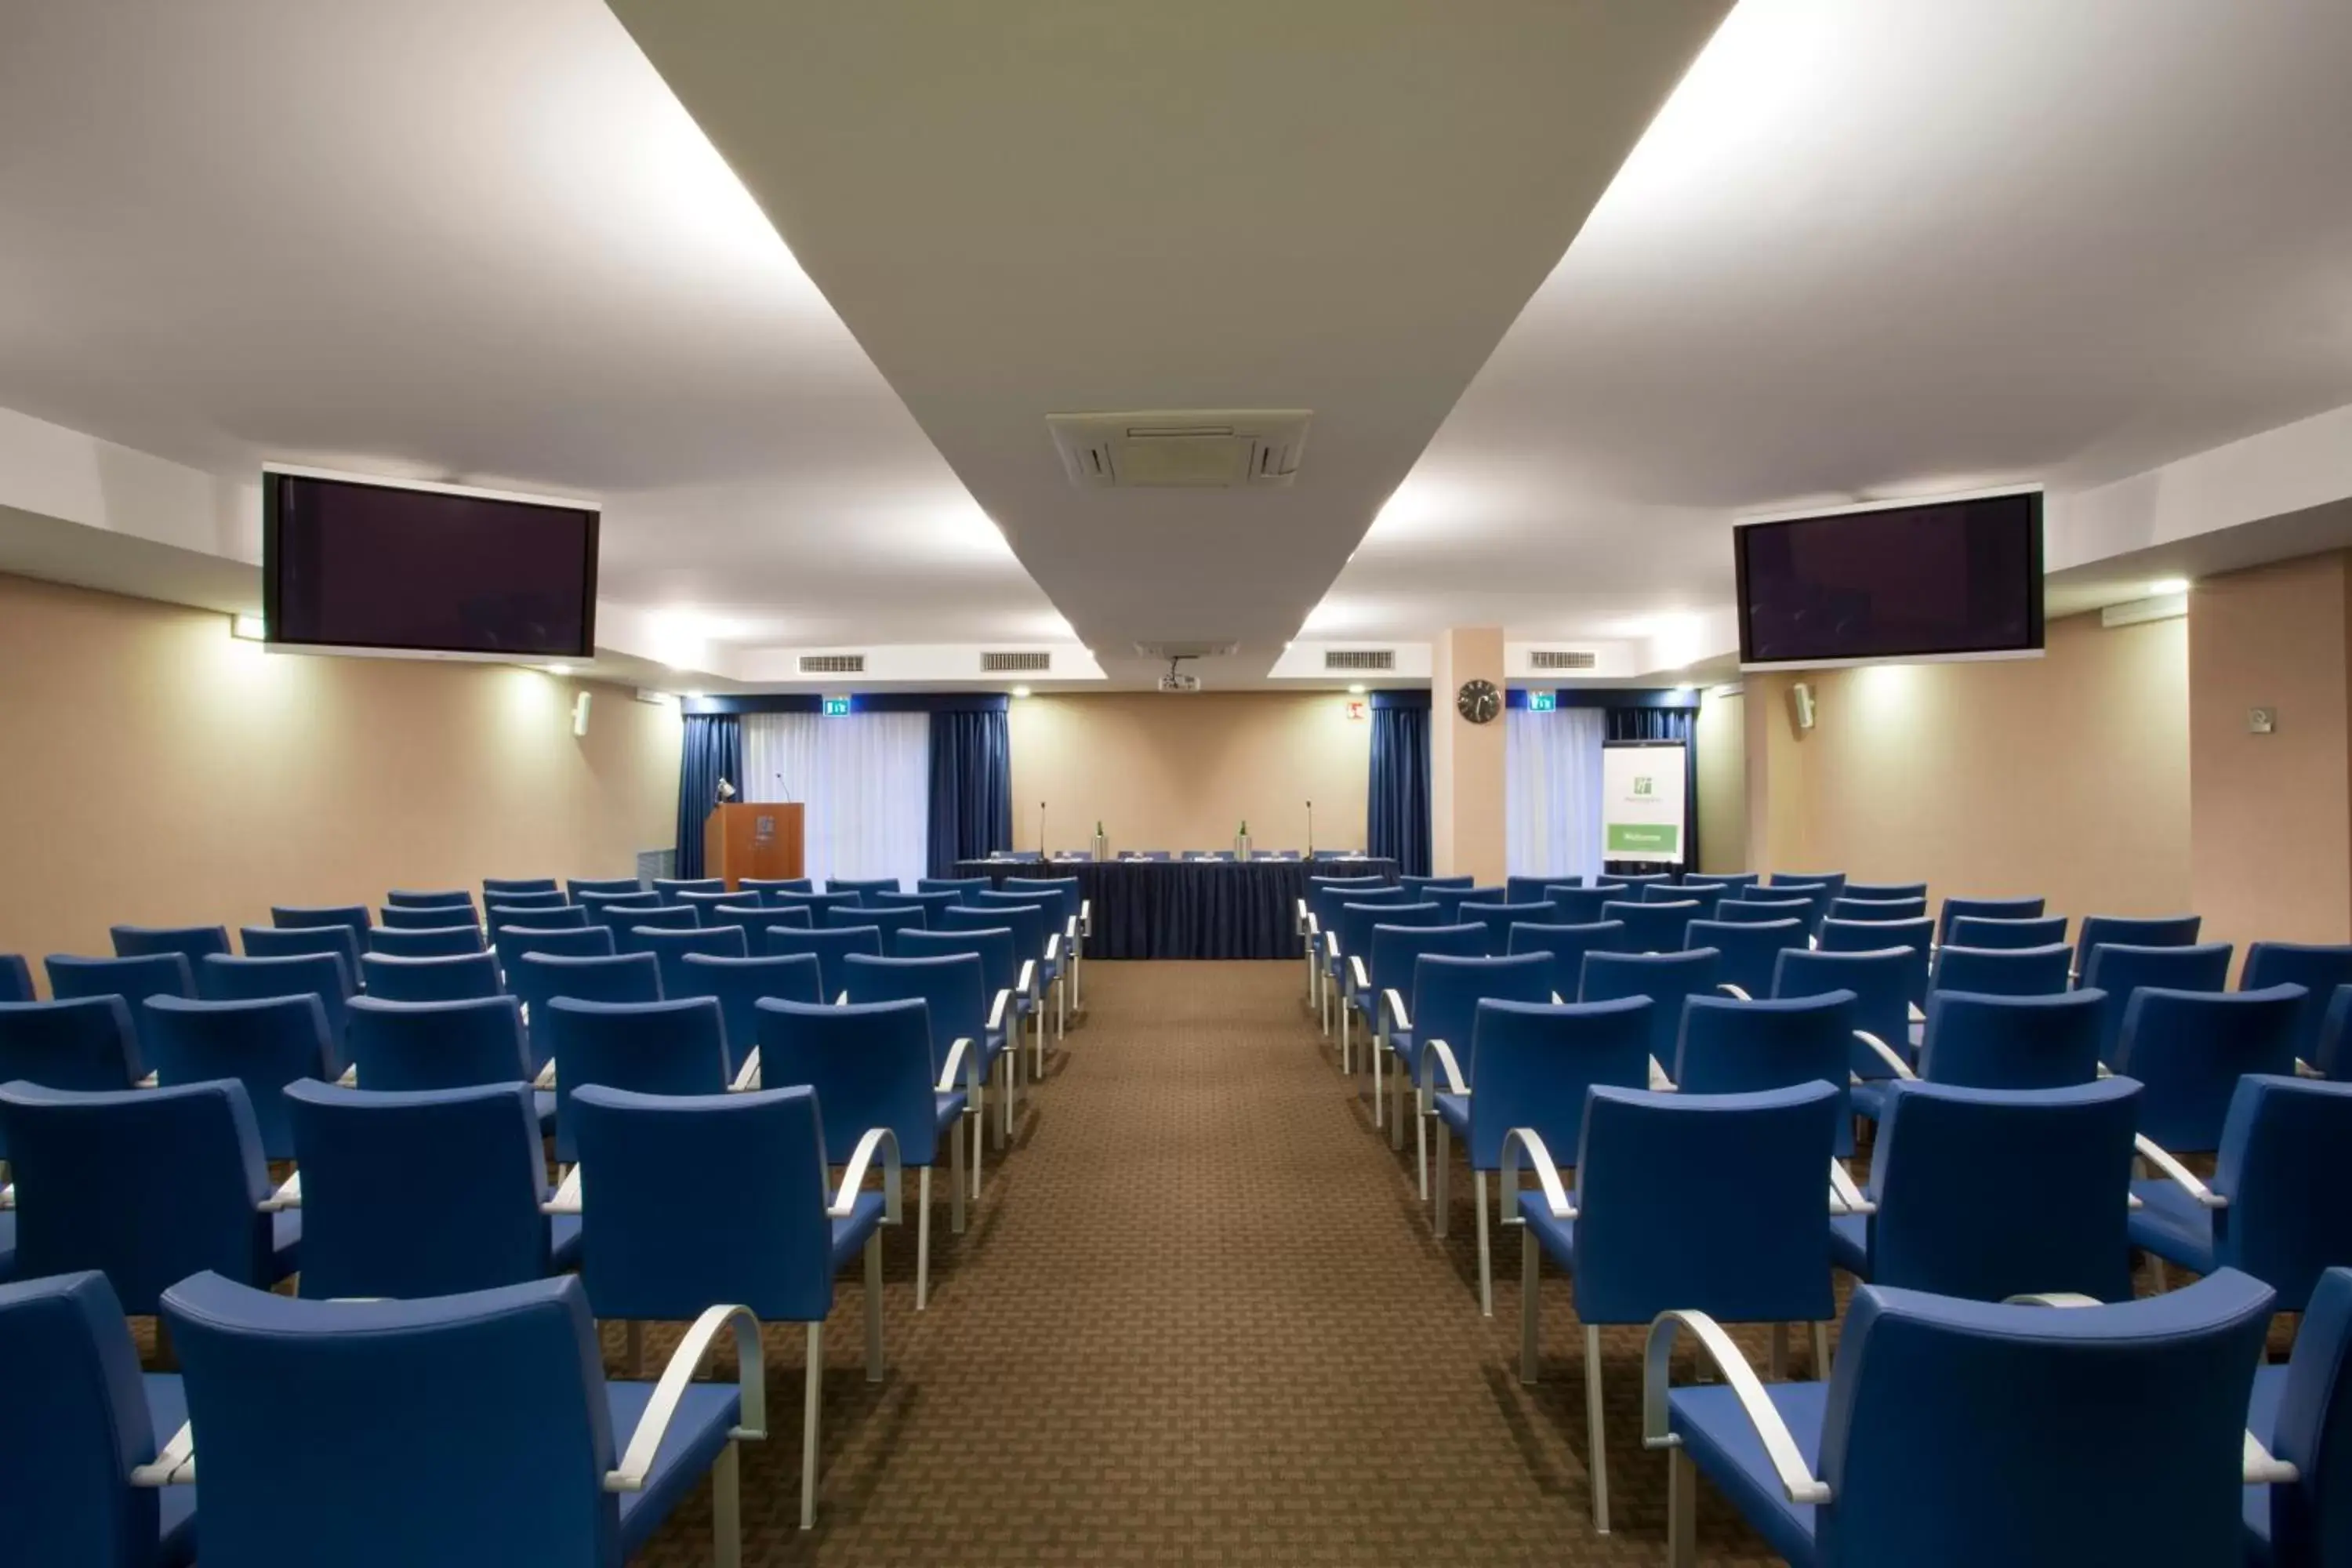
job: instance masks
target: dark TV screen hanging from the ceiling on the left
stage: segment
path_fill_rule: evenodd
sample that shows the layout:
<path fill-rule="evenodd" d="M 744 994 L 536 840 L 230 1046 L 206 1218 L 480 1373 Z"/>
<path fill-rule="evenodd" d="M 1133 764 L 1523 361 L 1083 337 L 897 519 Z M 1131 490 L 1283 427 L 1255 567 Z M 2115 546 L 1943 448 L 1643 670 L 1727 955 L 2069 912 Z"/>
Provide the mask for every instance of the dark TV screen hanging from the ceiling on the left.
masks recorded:
<path fill-rule="evenodd" d="M 595 536 L 576 505 L 263 473 L 268 639 L 593 658 Z"/>

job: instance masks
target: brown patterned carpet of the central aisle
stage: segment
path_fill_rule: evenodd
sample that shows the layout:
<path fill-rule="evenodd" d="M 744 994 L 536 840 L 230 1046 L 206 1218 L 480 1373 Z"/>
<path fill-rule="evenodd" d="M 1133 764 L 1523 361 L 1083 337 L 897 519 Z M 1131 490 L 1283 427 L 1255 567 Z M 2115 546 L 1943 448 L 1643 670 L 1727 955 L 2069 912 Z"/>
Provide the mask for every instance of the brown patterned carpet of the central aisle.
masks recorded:
<path fill-rule="evenodd" d="M 1566 1279 L 1545 1272 L 1545 1382 L 1522 1389 L 1517 1237 L 1479 1319 L 1468 1178 L 1439 1244 L 1298 983 L 1298 964 L 1089 969 L 1089 1018 L 969 1234 L 941 1208 L 920 1319 L 913 1227 L 887 1237 L 880 1387 L 842 1276 L 811 1533 L 802 1333 L 769 1331 L 746 1563 L 1665 1561 L 1639 1331 L 1604 1335 L 1616 1533 L 1597 1537 Z M 675 1331 L 647 1342 L 652 1371 Z M 1764 1335 L 1743 1345 L 1762 1356 Z M 701 1495 L 635 1561 L 706 1563 L 708 1528 Z M 1703 1495 L 1700 1561 L 1778 1559 Z"/>

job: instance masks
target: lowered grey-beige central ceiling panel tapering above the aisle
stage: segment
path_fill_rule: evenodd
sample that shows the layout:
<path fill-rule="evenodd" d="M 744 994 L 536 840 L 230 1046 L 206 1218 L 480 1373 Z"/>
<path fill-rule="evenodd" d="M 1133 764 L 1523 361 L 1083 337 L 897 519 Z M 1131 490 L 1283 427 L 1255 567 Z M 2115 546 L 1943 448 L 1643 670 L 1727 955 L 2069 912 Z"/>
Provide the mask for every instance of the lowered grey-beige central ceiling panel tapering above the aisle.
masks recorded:
<path fill-rule="evenodd" d="M 1724 9 L 614 0 L 1077 635 L 1242 677 Z M 1080 491 L 1044 428 L 1218 407 L 1312 409 L 1296 484 Z"/>

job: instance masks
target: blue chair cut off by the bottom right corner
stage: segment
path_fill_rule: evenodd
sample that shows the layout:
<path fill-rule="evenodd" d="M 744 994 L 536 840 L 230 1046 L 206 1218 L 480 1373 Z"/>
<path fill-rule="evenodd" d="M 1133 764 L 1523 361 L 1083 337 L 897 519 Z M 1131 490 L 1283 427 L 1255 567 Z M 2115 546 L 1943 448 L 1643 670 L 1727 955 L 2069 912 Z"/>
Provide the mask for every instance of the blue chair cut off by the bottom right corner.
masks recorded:
<path fill-rule="evenodd" d="M 2293 1481 L 2246 1488 L 2249 1561 L 2277 1568 L 2326 1568 L 2345 1561 L 2352 1523 L 2352 1269 L 2328 1269 L 2296 1326 L 2286 1366 L 2253 1368 L 2246 1432 Z"/>

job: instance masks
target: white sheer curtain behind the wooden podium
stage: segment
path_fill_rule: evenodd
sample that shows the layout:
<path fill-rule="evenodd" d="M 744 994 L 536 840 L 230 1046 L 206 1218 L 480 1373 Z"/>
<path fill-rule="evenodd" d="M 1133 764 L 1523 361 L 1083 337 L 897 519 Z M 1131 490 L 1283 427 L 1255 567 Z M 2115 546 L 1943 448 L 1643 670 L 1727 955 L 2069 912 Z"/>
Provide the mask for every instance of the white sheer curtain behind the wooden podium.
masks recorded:
<path fill-rule="evenodd" d="M 922 712 L 743 715 L 743 799 L 797 799 L 807 875 L 929 875 L 931 717 Z"/>

